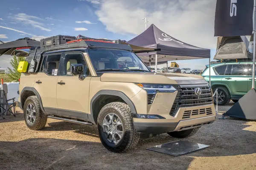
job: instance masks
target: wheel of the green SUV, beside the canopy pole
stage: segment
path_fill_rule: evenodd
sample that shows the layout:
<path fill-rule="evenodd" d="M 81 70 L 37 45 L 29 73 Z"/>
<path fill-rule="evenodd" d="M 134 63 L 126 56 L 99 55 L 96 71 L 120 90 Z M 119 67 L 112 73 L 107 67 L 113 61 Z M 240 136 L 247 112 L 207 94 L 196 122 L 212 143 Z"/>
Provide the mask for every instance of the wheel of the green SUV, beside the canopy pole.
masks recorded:
<path fill-rule="evenodd" d="M 217 87 L 218 88 L 218 105 L 226 105 L 230 102 L 230 93 L 225 87 Z M 216 88 L 214 88 L 213 92 L 215 92 Z M 213 102 L 216 105 L 216 96 L 213 97 Z"/>

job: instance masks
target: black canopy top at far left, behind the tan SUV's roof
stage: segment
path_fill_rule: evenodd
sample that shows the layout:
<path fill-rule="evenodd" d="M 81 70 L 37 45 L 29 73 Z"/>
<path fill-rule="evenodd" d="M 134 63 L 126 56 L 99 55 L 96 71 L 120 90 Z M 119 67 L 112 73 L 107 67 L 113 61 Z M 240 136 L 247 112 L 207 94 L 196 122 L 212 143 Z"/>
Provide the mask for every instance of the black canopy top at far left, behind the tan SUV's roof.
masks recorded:
<path fill-rule="evenodd" d="M 28 37 L 0 44 L 0 56 L 11 55 L 16 48 L 40 46 L 40 42 Z"/>

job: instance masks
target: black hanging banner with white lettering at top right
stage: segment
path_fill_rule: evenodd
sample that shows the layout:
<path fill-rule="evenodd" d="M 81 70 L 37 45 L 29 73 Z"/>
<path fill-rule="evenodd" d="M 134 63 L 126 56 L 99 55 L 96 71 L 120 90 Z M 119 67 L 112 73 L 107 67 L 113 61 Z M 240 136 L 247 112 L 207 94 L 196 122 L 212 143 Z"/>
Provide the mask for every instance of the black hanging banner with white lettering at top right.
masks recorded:
<path fill-rule="evenodd" d="M 252 35 L 253 0 L 217 0 L 214 36 Z"/>

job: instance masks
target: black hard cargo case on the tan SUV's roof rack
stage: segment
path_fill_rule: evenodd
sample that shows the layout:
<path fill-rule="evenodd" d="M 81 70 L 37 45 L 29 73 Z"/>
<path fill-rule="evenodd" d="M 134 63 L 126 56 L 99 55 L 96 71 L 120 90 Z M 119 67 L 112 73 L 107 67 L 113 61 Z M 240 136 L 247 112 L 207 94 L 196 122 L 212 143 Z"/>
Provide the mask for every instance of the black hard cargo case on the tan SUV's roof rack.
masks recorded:
<path fill-rule="evenodd" d="M 66 44 L 69 41 L 76 40 L 75 36 L 56 35 L 53 37 L 44 38 L 40 41 L 41 48 L 53 47 L 55 45 Z"/>

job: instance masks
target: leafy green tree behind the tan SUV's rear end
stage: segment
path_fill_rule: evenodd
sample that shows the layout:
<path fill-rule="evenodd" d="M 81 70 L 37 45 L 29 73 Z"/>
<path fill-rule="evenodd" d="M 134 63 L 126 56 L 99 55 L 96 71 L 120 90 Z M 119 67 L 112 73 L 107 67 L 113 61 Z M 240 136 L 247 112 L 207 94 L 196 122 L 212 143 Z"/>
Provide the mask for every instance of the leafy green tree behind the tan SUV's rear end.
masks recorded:
<path fill-rule="evenodd" d="M 20 79 L 20 72 L 17 71 L 18 65 L 20 61 L 25 61 L 25 57 L 16 57 L 12 56 L 10 64 L 12 65 L 12 69 L 8 67 L 9 74 L 8 76 L 13 80 L 18 81 Z"/>

